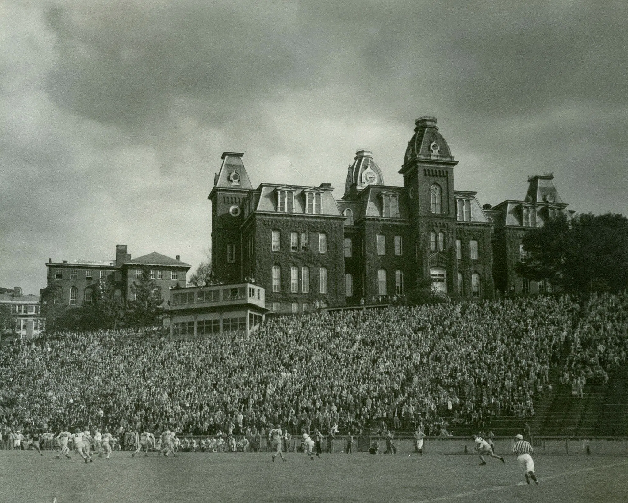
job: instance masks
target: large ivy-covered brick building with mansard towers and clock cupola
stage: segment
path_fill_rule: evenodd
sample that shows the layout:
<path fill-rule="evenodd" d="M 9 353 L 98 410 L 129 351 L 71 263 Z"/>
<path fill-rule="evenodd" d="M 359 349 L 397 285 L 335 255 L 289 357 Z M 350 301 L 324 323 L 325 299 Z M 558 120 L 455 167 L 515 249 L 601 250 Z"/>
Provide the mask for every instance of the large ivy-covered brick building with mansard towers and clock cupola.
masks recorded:
<path fill-rule="evenodd" d="M 359 150 L 339 200 L 329 183 L 254 189 L 243 154 L 224 152 L 208 196 L 219 280 L 257 282 L 269 309 L 294 313 L 382 302 L 408 294 L 420 277 L 455 297 L 538 292 L 514 265 L 524 233 L 566 211 L 553 177 L 531 177 L 524 201 L 483 208 L 474 191 L 455 189 L 458 161 L 436 119 L 415 124 L 403 186 L 385 184 L 372 153 Z"/>

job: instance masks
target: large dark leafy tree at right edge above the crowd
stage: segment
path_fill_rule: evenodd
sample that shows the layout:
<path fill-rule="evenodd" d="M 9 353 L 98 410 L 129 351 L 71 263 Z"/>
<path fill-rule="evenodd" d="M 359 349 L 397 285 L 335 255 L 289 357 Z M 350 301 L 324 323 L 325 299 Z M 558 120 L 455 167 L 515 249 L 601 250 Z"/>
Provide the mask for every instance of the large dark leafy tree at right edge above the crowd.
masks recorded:
<path fill-rule="evenodd" d="M 531 280 L 548 279 L 568 292 L 628 287 L 628 219 L 620 214 L 561 214 L 523 240 L 528 259 L 517 273 Z"/>

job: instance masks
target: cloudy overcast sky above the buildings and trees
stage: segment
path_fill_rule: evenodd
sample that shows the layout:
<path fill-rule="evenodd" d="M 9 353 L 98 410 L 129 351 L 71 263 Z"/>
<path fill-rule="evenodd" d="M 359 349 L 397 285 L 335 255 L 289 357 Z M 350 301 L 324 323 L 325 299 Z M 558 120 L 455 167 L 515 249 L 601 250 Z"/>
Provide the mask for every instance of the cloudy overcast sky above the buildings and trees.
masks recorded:
<path fill-rule="evenodd" d="M 553 171 L 578 212 L 628 213 L 624 1 L 0 1 L 0 286 L 53 261 L 158 251 L 194 267 L 214 172 L 387 184 L 435 115 L 480 203 Z"/>

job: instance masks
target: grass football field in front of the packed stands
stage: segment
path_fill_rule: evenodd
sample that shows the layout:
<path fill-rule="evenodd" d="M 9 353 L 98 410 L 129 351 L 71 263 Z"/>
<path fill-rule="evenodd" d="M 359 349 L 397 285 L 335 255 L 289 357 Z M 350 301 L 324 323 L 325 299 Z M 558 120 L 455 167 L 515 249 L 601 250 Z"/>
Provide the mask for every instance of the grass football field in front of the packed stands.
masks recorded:
<path fill-rule="evenodd" d="M 506 465 L 475 455 L 367 453 L 180 453 L 178 457 L 55 459 L 0 451 L 1 502 L 627 502 L 628 459 L 534 458 L 540 485 L 526 485 L 514 456 Z"/>

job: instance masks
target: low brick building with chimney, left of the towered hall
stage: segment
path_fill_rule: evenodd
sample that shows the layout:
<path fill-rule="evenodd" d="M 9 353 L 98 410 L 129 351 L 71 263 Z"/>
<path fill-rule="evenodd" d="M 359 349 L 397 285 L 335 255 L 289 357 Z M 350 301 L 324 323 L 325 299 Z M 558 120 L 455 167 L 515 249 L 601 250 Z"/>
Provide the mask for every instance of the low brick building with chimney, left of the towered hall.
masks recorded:
<path fill-rule="evenodd" d="M 170 301 L 170 289 L 185 287 L 186 275 L 190 264 L 176 258 L 166 257 L 153 251 L 148 255 L 131 258 L 126 252 L 126 245 L 116 246 L 116 260 L 75 260 L 68 262 L 46 263 L 47 290 L 51 301 L 55 304 L 81 305 L 89 302 L 94 285 L 100 280 L 111 283 L 114 287 L 114 298 L 123 302 L 133 299 L 134 281 L 144 267 L 148 267 L 159 289 L 160 297 L 165 305 Z"/>

